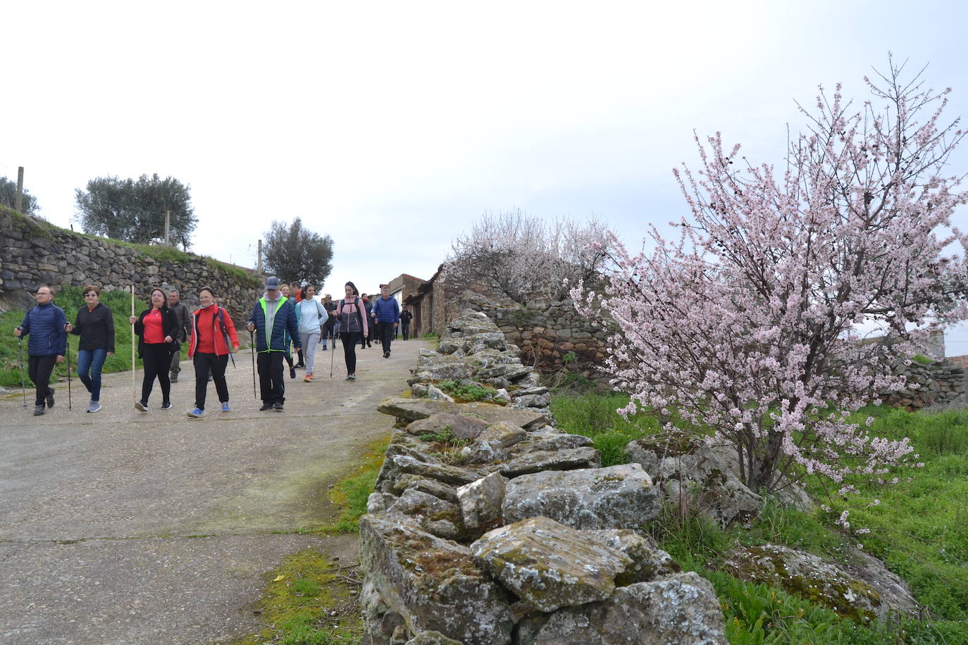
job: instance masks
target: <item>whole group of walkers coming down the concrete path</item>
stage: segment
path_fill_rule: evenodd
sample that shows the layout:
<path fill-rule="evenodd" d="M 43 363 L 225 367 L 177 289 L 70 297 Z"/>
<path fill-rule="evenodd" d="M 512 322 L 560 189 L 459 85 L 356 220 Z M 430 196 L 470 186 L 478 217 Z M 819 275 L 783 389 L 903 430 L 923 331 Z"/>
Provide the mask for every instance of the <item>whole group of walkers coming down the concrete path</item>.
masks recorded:
<path fill-rule="evenodd" d="M 322 302 L 316 300 L 316 288 L 311 284 L 287 285 L 272 276 L 265 280 L 265 291 L 249 316 L 246 329 L 255 345 L 259 391 L 262 405 L 259 410 L 283 410 L 286 383 L 283 361 L 287 361 L 289 378 L 295 378 L 297 367 L 305 367 L 303 380 L 311 383 L 315 376 L 316 351 L 319 344 L 327 350 L 327 341 L 335 350 L 335 339 L 343 343 L 347 366 L 347 380 L 356 380 L 356 345 L 371 346 L 374 335 L 383 349 L 383 358 L 390 357 L 391 340 L 397 337 L 402 325 L 404 339 L 408 339 L 412 314 L 401 312 L 389 287 L 380 287 L 380 297 L 364 299 L 352 282 L 345 285 L 345 297 L 334 303 L 329 294 Z M 50 375 L 57 363 L 67 355 L 67 334 L 80 337 L 77 351 L 77 375 L 91 395 L 87 412 L 101 409 L 101 372 L 106 357 L 114 353 L 114 319 L 110 308 L 99 302 L 101 289 L 84 287 L 84 306 L 77 310 L 74 323 L 67 320 L 64 310 L 53 304 L 50 287 L 37 290 L 37 306 L 24 315 L 14 331 L 15 337 L 29 337 L 27 343 L 28 375 L 37 386 L 34 415 L 45 414 L 54 405 L 54 390 L 49 386 Z M 134 297 L 132 302 L 134 303 Z M 149 307 L 130 322 L 137 337 L 137 355 L 144 366 L 141 395 L 135 401 L 140 412 L 149 411 L 149 398 L 157 380 L 162 392 L 161 409 L 171 408 L 171 384 L 177 383 L 181 369 L 181 345 L 189 342 L 188 356 L 196 373 L 195 407 L 188 412 L 192 418 L 205 411 L 208 382 L 215 390 L 223 412 L 229 411 L 226 369 L 228 361 L 239 349 L 235 325 L 225 308 L 216 303 L 211 287 L 198 290 L 199 308 L 190 311 L 180 302 L 180 294 L 171 289 L 166 294 L 155 287 L 149 296 Z M 134 309 L 134 306 L 133 306 Z M 291 351 L 297 356 L 293 363 Z M 134 359 L 133 359 L 134 360 Z M 70 366 L 69 366 L 70 368 Z M 26 403 L 25 403 L 26 404 Z"/>

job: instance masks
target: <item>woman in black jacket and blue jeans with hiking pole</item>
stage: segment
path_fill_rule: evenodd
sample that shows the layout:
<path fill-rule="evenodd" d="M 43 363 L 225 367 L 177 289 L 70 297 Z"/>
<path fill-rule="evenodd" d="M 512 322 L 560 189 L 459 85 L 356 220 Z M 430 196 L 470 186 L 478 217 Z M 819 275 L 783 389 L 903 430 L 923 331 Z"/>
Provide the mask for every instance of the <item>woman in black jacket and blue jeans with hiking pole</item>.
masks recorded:
<path fill-rule="evenodd" d="M 77 378 L 91 393 L 87 412 L 101 409 L 101 369 L 114 354 L 114 316 L 100 302 L 101 287 L 84 287 L 84 306 L 77 309 L 74 324 L 67 331 L 80 337 L 77 343 Z"/>

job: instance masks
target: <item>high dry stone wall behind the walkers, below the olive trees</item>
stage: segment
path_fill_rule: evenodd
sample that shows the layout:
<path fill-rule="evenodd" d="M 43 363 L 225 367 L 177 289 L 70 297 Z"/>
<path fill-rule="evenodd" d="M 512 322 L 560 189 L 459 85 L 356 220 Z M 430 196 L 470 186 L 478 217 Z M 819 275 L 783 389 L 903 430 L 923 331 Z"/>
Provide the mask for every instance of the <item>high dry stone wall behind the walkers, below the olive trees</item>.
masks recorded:
<path fill-rule="evenodd" d="M 24 302 L 26 291 L 48 284 L 97 284 L 103 290 L 129 289 L 147 300 L 151 288 L 174 287 L 189 306 L 197 289 L 209 285 L 236 320 L 245 320 L 261 295 L 254 273 L 189 253 L 183 259 L 158 259 L 106 238 L 80 235 L 0 209 L 0 297 Z M 29 303 L 29 300 L 25 302 Z"/>

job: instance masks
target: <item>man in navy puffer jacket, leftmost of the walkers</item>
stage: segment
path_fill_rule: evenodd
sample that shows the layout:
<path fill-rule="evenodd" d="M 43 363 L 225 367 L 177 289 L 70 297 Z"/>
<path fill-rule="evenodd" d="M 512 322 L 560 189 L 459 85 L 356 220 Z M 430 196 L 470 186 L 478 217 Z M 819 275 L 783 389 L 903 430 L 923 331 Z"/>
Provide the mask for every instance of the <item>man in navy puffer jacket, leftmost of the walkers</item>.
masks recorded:
<path fill-rule="evenodd" d="M 15 337 L 29 336 L 27 342 L 27 374 L 37 386 L 34 398 L 34 416 L 44 414 L 44 406 L 54 406 L 54 390 L 50 387 L 50 374 L 54 364 L 62 363 L 67 354 L 67 316 L 64 309 L 53 303 L 50 287 L 37 290 L 37 306 L 23 316 L 23 322 L 14 330 Z"/>

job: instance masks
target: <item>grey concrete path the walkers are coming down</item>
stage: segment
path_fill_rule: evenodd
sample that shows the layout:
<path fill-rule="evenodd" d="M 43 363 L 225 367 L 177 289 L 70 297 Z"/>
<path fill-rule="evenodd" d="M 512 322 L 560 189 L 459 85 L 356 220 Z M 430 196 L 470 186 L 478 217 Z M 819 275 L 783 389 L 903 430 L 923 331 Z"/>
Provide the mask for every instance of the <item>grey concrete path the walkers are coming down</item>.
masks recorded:
<path fill-rule="evenodd" d="M 327 489 L 388 434 L 376 411 L 407 389 L 423 340 L 390 359 L 342 347 L 317 352 L 317 382 L 287 379 L 284 412 L 258 412 L 246 350 L 228 367 L 231 412 L 209 384 L 206 416 L 190 420 L 195 371 L 183 363 L 170 410 L 136 412 L 131 373 L 105 377 L 101 412 L 73 382 L 33 417 L 19 393 L 0 400 L 0 642 L 213 643 L 259 628 L 261 573 L 314 546 L 355 557 L 355 536 L 298 535 L 332 518 Z M 137 373 L 140 388 L 141 372 Z"/>

